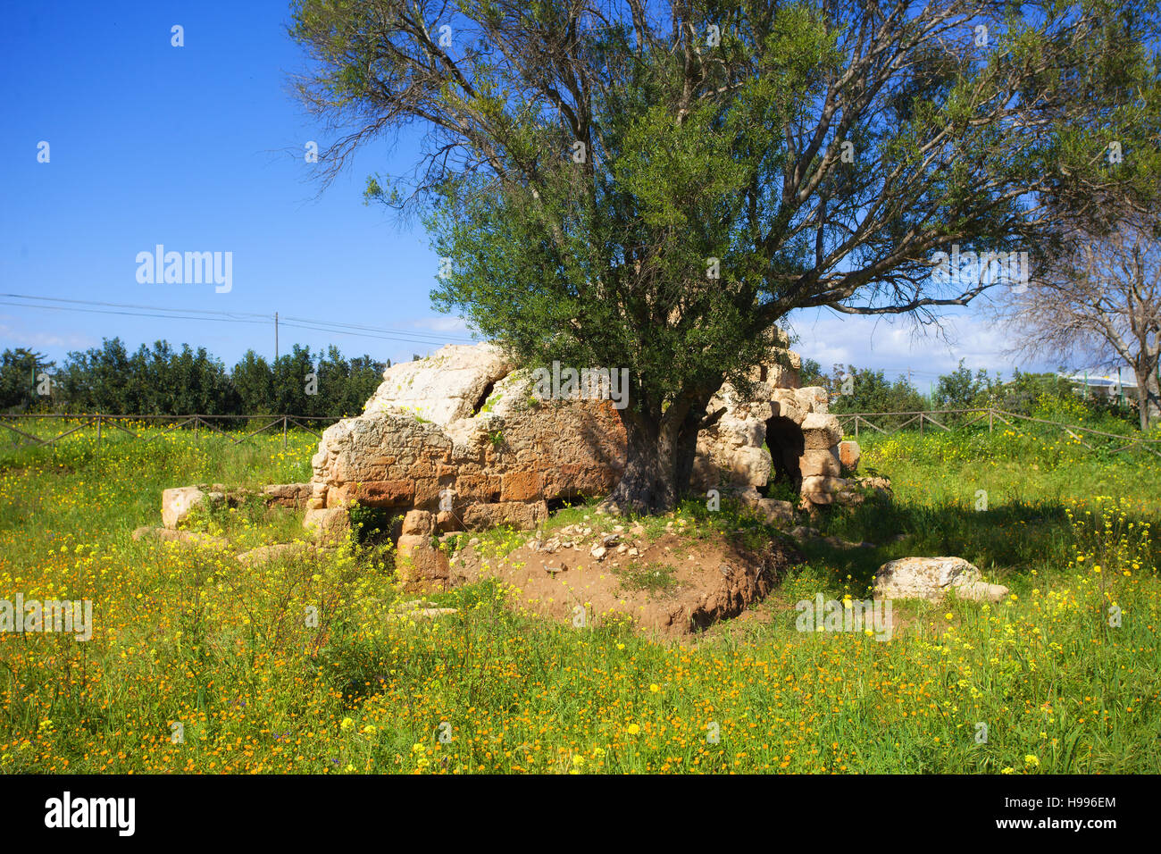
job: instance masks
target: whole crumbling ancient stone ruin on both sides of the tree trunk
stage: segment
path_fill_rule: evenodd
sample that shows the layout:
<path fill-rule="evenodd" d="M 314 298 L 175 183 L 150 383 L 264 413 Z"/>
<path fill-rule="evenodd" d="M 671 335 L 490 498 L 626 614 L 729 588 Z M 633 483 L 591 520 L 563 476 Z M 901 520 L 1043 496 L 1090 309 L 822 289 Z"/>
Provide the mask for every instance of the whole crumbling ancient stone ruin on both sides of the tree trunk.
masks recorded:
<path fill-rule="evenodd" d="M 749 397 L 721 388 L 708 411 L 724 412 L 698 437 L 695 489 L 734 495 L 771 522 L 794 510 L 766 497 L 772 482 L 793 483 L 800 509 L 860 498 L 843 476 L 858 465 L 858 445 L 841 442 L 825 389 L 799 387 L 800 368 L 781 350 L 756 368 Z M 612 402 L 541 400 L 534 385 L 492 344 L 392 365 L 361 416 L 323 433 L 304 524 L 325 537 L 346 530 L 352 502 L 390 509 L 405 516 L 405 554 L 440 532 L 532 529 L 568 500 L 610 493 L 626 444 Z"/>

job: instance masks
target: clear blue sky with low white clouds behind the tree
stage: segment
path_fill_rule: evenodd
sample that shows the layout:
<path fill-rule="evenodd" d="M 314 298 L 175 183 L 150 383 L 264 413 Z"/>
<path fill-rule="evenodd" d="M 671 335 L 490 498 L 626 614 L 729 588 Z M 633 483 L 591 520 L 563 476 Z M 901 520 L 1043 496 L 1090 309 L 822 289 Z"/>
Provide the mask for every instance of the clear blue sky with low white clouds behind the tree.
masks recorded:
<path fill-rule="evenodd" d="M 0 350 L 29 346 L 59 363 L 103 337 L 120 336 L 130 349 L 165 338 L 204 345 L 233 364 L 251 347 L 273 356 L 275 311 L 425 339 L 283 325 L 283 352 L 293 342 L 315 350 L 337 344 L 347 354 L 401 360 L 466 339 L 462 323 L 431 308 L 438 259 L 421 225 L 401 228 L 389 211 L 362 202 L 367 174 L 410 165 L 411 141 L 366 149 L 318 194 L 303 152 L 307 142 L 322 146 L 327 138 L 289 94 L 288 76 L 307 59 L 286 34 L 288 20 L 286 0 L 68 1 L 6 10 L 0 293 L 264 317 L 86 314 L 0 296 L 23 303 L 0 304 Z M 174 24 L 183 28 L 185 46 L 171 45 Z M 42 141 L 49 163 L 37 162 Z M 232 252 L 231 289 L 138 282 L 136 256 L 157 244 Z M 972 367 L 1011 367 L 1005 342 L 971 314 L 951 321 L 951 345 L 914 336 L 907 320 L 810 311 L 792 325 L 798 350 L 824 367 L 853 363 L 889 375 L 910 368 L 923 390 L 960 358 Z"/>

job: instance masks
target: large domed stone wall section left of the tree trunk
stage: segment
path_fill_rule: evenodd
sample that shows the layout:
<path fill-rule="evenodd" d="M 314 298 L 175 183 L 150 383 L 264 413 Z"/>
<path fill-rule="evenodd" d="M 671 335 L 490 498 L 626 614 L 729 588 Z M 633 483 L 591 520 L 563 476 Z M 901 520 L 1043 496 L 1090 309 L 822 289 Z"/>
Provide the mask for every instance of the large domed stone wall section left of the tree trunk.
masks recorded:
<path fill-rule="evenodd" d="M 309 525 L 358 501 L 437 512 L 441 530 L 527 528 L 547 501 L 612 490 L 625 429 L 610 401 L 539 400 L 496 347 L 450 345 L 388 368 L 366 412 L 324 432 L 312 466 Z"/>

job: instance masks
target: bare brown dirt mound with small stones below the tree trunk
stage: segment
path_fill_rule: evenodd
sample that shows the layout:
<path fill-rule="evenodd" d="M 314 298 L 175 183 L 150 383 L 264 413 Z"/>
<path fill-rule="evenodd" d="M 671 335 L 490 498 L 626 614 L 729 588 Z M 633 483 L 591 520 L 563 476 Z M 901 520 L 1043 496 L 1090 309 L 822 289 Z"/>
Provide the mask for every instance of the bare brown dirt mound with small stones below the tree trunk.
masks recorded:
<path fill-rule="evenodd" d="M 521 610 L 576 626 L 628 622 L 647 633 L 685 637 L 742 613 L 800 560 L 780 540 L 666 532 L 649 540 L 635 526 L 570 526 L 533 537 L 504 557 L 468 546 L 452 559 L 453 583 L 497 579 Z M 570 530 L 572 529 L 572 530 Z"/>

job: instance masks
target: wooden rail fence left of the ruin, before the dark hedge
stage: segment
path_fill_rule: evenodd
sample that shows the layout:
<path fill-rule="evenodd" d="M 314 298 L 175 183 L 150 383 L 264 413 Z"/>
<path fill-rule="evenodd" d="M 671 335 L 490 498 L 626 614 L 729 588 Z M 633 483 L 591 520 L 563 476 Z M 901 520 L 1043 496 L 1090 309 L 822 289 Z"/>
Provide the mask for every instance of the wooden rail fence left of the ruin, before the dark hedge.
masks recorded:
<path fill-rule="evenodd" d="M 104 414 L 82 414 L 82 415 L 67 415 L 59 412 L 49 414 L 36 414 L 36 412 L 20 412 L 20 414 L 0 414 L 0 428 L 3 428 L 13 436 L 13 444 L 20 445 L 22 443 L 30 443 L 34 445 L 56 445 L 60 439 L 66 436 L 80 432 L 87 428 L 96 430 L 96 442 L 101 444 L 104 440 L 104 433 L 107 428 L 111 428 L 116 431 L 118 436 L 129 436 L 134 439 L 139 439 L 140 442 L 153 442 L 156 439 L 166 436 L 175 430 L 193 430 L 194 440 L 200 440 L 202 431 L 205 430 L 210 435 L 217 433 L 219 436 L 230 439 L 231 445 L 239 445 L 247 439 L 254 438 L 260 433 L 265 433 L 268 430 L 282 431 L 282 446 L 287 446 L 287 431 L 291 425 L 301 430 L 305 430 L 312 436 L 322 439 L 323 435 L 317 430 L 311 429 L 308 423 L 318 422 L 330 422 L 334 423 L 340 421 L 341 415 L 104 415 Z M 68 426 L 68 429 L 53 432 L 49 437 L 36 436 L 29 432 L 29 430 L 35 429 L 30 422 L 41 421 L 63 421 L 66 424 L 71 422 L 77 422 Z M 251 430 L 244 436 L 236 437 L 230 431 L 223 429 L 225 424 L 230 422 L 251 423 L 251 422 L 266 422 L 262 426 L 257 430 Z M 135 430 L 137 424 L 146 423 L 150 428 L 161 426 L 163 430 L 159 432 L 153 432 L 152 435 L 146 435 L 145 432 L 137 432 Z M 216 422 L 216 423 L 215 423 Z M 20 424 L 21 426 L 16 426 Z M 27 428 L 27 429 L 21 429 Z M 237 431 L 235 431 L 237 432 Z"/>

